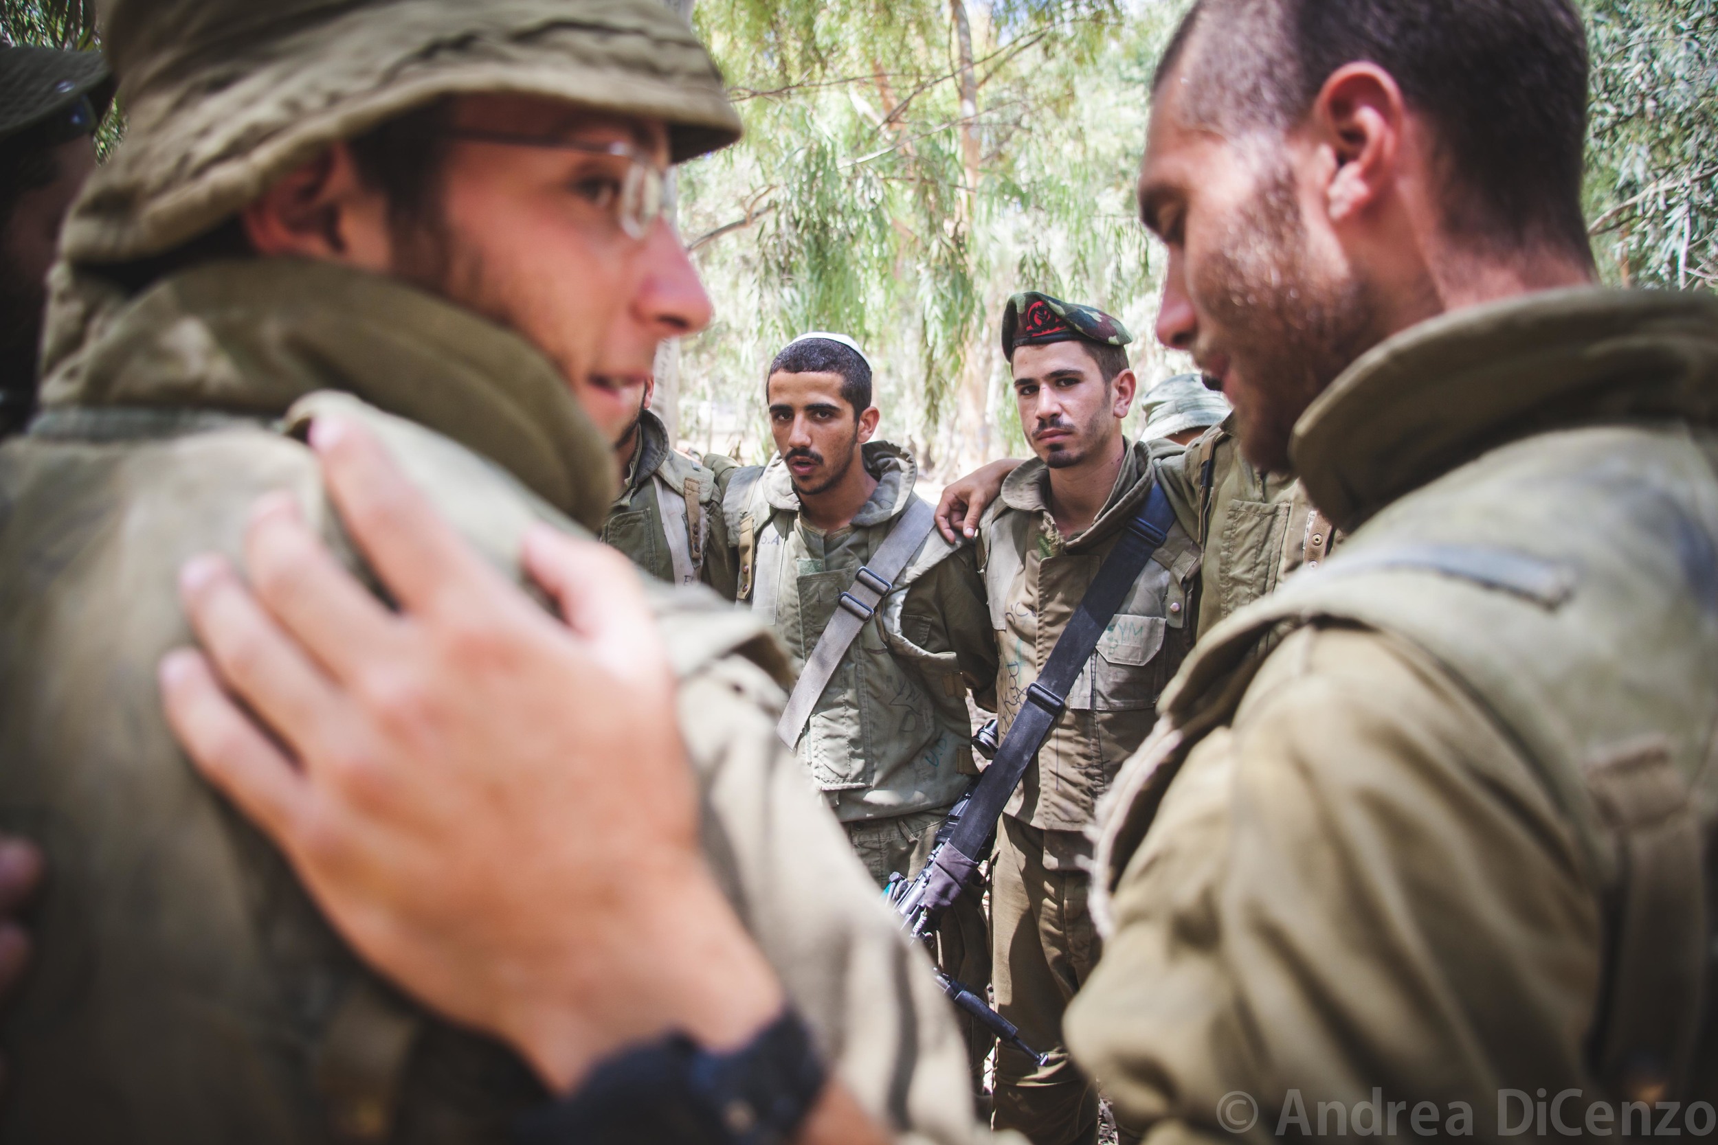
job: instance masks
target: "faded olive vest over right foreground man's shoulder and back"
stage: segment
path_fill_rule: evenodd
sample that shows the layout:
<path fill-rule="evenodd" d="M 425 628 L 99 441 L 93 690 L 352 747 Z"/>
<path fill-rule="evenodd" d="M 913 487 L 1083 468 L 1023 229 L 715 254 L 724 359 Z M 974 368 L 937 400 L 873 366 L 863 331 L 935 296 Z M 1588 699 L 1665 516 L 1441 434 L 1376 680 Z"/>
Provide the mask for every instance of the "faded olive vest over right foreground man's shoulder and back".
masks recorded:
<path fill-rule="evenodd" d="M 1094 915 L 1187 754 L 1307 625 L 1412 642 L 1532 767 L 1603 888 L 1589 1066 L 1613 1094 L 1713 1099 L 1718 438 L 1682 424 L 1526 438 L 1388 505 L 1211 632 L 1103 814 Z"/>

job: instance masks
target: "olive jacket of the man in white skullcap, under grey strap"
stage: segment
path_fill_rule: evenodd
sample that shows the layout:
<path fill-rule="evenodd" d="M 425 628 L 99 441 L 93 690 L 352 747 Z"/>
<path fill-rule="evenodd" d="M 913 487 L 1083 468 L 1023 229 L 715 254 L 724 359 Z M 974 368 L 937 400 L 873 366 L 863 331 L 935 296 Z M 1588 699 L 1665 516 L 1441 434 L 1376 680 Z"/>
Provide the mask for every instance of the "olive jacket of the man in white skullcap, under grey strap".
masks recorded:
<path fill-rule="evenodd" d="M 905 451 L 886 441 L 861 448 L 878 486 L 838 532 L 806 524 L 782 458 L 728 486 L 728 536 L 746 548 L 740 599 L 795 664 L 916 496 Z M 990 706 L 996 675 L 983 592 L 972 549 L 931 529 L 859 628 L 799 738 L 801 762 L 844 822 L 948 807 L 976 774 L 966 697 Z"/>

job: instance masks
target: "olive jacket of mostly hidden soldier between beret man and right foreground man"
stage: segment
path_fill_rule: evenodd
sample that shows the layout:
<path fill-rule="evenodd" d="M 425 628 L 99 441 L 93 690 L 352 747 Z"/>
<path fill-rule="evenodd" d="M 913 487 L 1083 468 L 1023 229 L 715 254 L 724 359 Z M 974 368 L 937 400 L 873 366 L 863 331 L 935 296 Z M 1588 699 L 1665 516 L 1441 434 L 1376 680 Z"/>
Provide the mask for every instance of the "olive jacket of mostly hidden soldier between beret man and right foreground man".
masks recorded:
<path fill-rule="evenodd" d="M 1342 541 L 1292 476 L 1266 474 L 1240 455 L 1235 415 L 1156 462 L 1182 525 L 1204 551 L 1197 633 L 1270 596 L 1301 565 L 1318 566 Z"/>

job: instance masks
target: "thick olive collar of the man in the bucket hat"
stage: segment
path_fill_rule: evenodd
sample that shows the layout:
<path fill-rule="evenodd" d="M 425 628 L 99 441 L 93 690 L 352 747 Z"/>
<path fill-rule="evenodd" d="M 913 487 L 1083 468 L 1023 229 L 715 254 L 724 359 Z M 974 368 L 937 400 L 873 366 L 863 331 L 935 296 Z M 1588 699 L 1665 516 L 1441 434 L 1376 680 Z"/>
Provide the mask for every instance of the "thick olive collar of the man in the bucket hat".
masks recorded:
<path fill-rule="evenodd" d="M 210 263 L 103 321 L 43 405 L 278 417 L 342 390 L 498 463 L 598 529 L 613 453 L 565 381 L 517 335 L 392 278 L 301 259 Z"/>

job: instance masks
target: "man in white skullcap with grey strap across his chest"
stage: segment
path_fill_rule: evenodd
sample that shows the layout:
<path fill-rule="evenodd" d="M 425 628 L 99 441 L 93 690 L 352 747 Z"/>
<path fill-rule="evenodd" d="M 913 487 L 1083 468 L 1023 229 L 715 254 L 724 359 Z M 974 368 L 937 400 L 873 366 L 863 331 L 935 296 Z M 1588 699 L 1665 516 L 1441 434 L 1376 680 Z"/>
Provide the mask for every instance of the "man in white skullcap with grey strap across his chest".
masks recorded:
<path fill-rule="evenodd" d="M 996 644 L 971 546 L 931 527 L 917 467 L 873 439 L 871 360 L 844 335 L 795 338 L 765 381 L 777 457 L 734 472 L 739 599 L 801 666 L 782 723 L 878 888 L 914 877 L 978 774 L 966 697 L 995 707 Z M 979 894 L 943 917 L 938 961 L 983 992 Z M 990 1035 L 967 1021 L 974 1080 Z"/>

